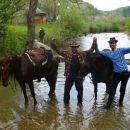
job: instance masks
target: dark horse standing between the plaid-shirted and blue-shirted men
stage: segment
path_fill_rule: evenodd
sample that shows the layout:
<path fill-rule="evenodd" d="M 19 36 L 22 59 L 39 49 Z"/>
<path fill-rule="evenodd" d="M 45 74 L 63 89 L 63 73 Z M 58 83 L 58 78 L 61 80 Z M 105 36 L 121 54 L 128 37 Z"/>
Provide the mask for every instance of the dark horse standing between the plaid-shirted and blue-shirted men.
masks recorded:
<path fill-rule="evenodd" d="M 109 93 L 109 86 L 113 77 L 112 61 L 99 53 L 86 53 L 85 61 L 81 64 L 79 76 L 85 77 L 91 73 L 94 84 L 95 100 L 97 100 L 97 84 L 106 84 L 106 93 Z"/>

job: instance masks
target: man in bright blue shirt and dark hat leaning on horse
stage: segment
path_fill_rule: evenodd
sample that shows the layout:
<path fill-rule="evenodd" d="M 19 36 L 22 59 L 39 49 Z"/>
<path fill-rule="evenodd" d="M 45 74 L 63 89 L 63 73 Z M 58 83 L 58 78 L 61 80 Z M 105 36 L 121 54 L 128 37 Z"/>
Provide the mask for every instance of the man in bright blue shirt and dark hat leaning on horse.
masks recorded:
<path fill-rule="evenodd" d="M 109 98 L 106 104 L 106 108 L 110 108 L 114 95 L 116 94 L 116 89 L 118 84 L 121 82 L 120 86 L 120 99 L 119 106 L 123 105 L 123 99 L 125 96 L 126 85 L 129 78 L 128 66 L 125 60 L 124 55 L 130 53 L 130 47 L 128 48 L 116 48 L 118 40 L 115 37 L 111 37 L 108 41 L 111 50 L 99 51 L 98 47 L 96 47 L 95 51 L 100 54 L 109 57 L 113 62 L 113 79 L 112 84 L 109 89 Z M 93 38 L 93 44 L 97 45 L 97 38 Z"/>

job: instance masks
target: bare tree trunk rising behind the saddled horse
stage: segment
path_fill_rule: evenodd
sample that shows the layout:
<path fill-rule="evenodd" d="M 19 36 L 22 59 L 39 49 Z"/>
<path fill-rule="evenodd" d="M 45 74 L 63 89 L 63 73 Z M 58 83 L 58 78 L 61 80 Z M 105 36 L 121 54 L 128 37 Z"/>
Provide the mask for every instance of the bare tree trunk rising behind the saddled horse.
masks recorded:
<path fill-rule="evenodd" d="M 30 0 L 29 10 L 27 12 L 27 43 L 25 48 L 32 48 L 35 39 L 35 14 L 38 0 Z"/>

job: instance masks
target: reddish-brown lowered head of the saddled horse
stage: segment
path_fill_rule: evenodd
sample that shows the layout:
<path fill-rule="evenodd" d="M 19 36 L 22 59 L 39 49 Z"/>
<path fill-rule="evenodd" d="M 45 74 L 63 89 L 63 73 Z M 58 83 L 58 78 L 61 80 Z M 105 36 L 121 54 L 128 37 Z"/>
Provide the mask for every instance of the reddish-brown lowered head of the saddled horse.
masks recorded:
<path fill-rule="evenodd" d="M 1 81 L 3 86 L 8 86 L 8 79 L 10 74 L 10 61 L 11 57 L 1 57 L 0 58 L 0 73 Z"/>

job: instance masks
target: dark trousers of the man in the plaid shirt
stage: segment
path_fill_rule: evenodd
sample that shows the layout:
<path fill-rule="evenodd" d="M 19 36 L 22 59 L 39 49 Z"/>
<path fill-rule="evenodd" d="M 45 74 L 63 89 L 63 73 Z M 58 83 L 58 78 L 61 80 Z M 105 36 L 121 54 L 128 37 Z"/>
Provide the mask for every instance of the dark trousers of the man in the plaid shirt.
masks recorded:
<path fill-rule="evenodd" d="M 75 83 L 76 90 L 78 91 L 78 103 L 82 104 L 83 100 L 83 79 L 78 78 L 77 76 L 69 76 L 65 81 L 64 88 L 64 103 L 68 104 L 70 100 L 70 90 Z"/>

